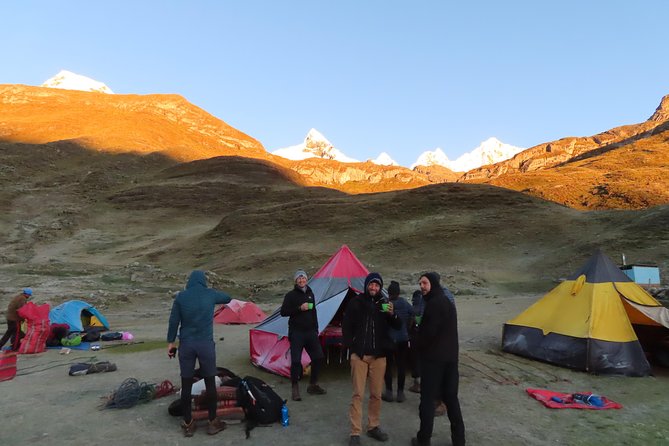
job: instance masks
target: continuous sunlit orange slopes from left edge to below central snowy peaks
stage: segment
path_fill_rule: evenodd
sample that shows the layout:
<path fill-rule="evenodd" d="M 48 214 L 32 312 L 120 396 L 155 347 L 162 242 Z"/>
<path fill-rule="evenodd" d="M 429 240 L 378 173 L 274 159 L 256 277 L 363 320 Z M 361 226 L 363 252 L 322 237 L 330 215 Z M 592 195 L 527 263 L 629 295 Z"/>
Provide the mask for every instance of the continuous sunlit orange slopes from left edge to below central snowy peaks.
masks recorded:
<path fill-rule="evenodd" d="M 0 141 L 43 144 L 72 140 L 111 153 L 160 153 L 179 161 L 216 156 L 263 159 L 290 168 L 300 181 L 349 193 L 428 184 L 403 167 L 291 161 L 178 95 L 106 95 L 25 85 L 0 85 Z"/>

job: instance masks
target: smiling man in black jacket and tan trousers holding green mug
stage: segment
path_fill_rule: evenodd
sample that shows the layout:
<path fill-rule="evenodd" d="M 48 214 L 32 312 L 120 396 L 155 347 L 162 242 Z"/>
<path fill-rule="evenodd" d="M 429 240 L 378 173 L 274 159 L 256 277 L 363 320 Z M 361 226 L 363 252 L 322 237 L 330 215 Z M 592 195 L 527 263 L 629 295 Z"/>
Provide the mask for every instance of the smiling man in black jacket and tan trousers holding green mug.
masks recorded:
<path fill-rule="evenodd" d="M 388 440 L 388 434 L 380 427 L 381 392 L 386 371 L 386 354 L 393 346 L 390 328 L 399 330 L 402 321 L 395 314 L 392 302 L 383 296 L 382 288 L 381 275 L 370 273 L 365 278 L 365 291 L 348 302 L 342 321 L 343 343 L 351 352 L 351 446 L 360 444 L 362 397 L 368 378 L 367 435 L 379 441 Z"/>

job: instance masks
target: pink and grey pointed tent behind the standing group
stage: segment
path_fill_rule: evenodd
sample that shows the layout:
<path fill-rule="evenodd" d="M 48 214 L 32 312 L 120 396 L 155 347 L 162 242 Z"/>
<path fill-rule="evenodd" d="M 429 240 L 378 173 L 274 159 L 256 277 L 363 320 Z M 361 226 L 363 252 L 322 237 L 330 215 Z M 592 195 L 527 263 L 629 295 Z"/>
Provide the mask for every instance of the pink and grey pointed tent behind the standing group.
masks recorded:
<path fill-rule="evenodd" d="M 369 271 L 348 246 L 343 245 L 314 274 L 308 284 L 314 292 L 318 315 L 318 332 L 335 319 L 353 290 L 362 290 Z M 288 318 L 277 308 L 262 323 L 249 331 L 251 362 L 281 376 L 290 376 L 290 343 Z M 310 362 L 302 352 L 302 366 Z"/>

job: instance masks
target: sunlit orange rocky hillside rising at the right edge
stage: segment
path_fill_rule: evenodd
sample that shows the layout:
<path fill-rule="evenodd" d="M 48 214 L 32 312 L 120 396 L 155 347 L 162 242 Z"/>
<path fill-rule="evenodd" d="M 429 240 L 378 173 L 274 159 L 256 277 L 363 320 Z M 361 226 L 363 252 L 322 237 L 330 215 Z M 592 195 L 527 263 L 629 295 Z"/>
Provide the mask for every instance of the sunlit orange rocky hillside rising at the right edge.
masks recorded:
<path fill-rule="evenodd" d="M 534 146 L 464 174 L 577 209 L 640 209 L 669 203 L 669 95 L 640 124 Z"/>

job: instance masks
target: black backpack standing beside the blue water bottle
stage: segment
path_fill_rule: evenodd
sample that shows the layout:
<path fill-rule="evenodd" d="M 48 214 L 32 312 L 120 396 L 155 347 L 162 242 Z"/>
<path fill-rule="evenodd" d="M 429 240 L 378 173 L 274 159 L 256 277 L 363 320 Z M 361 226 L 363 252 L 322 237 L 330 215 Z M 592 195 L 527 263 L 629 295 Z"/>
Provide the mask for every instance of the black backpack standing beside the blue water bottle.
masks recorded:
<path fill-rule="evenodd" d="M 253 376 L 246 376 L 237 386 L 237 404 L 246 415 L 246 438 L 257 425 L 268 425 L 281 420 L 281 408 L 286 400 L 267 383 Z"/>

